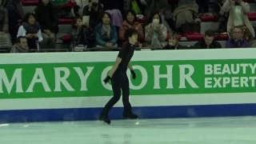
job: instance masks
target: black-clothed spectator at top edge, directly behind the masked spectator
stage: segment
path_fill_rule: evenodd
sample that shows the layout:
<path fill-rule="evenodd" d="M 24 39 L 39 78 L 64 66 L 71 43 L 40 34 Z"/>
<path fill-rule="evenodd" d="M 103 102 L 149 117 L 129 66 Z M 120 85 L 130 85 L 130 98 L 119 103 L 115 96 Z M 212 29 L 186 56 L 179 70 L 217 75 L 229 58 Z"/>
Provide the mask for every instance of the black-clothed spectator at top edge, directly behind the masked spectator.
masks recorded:
<path fill-rule="evenodd" d="M 170 26 L 170 29 L 172 31 L 176 31 L 174 15 L 172 13 L 171 7 L 167 0 L 145 0 L 142 3 L 146 4 L 146 8 L 144 10 L 146 19 L 150 19 L 150 16 L 152 14 L 155 14 L 157 12 L 162 12 L 164 15 L 164 18 L 166 19 L 166 22 Z"/>

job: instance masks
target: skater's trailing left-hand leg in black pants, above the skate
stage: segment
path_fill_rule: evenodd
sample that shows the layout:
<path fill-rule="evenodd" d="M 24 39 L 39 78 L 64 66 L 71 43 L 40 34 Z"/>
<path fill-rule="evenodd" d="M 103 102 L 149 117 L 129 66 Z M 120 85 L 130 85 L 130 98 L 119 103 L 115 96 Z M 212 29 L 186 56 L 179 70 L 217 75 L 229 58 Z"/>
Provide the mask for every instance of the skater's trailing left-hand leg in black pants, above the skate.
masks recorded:
<path fill-rule="evenodd" d="M 102 115 L 108 115 L 110 112 L 110 109 L 119 101 L 121 97 L 121 90 L 120 90 L 120 84 L 117 79 L 111 80 L 112 84 L 112 90 L 114 96 L 110 99 L 109 102 L 106 103 L 106 106 L 102 110 Z"/>

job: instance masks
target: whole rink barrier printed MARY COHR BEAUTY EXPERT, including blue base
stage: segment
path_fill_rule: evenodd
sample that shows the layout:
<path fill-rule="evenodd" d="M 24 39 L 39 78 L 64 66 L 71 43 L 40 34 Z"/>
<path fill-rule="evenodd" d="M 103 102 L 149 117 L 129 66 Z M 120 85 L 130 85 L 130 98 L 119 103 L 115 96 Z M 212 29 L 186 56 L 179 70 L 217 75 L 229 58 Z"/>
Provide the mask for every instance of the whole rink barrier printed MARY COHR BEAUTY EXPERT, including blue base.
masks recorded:
<path fill-rule="evenodd" d="M 134 113 L 140 118 L 256 115 L 255 52 L 254 49 L 136 51 L 132 65 L 138 78 L 130 79 Z M 104 85 L 102 79 L 117 54 L 2 55 L 0 122 L 97 119 L 112 95 L 110 84 Z M 54 98 L 56 101 L 52 101 Z M 111 118 L 121 118 L 120 106 L 122 99 L 111 110 Z"/>

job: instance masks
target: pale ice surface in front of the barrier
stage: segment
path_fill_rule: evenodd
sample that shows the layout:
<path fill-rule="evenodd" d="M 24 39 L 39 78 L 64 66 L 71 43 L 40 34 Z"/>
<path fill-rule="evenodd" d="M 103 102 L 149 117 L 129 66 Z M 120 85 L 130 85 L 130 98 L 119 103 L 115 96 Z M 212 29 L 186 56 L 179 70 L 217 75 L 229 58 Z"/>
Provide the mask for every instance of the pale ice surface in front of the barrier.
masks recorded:
<path fill-rule="evenodd" d="M 256 117 L 2 123 L 0 144 L 255 144 Z"/>

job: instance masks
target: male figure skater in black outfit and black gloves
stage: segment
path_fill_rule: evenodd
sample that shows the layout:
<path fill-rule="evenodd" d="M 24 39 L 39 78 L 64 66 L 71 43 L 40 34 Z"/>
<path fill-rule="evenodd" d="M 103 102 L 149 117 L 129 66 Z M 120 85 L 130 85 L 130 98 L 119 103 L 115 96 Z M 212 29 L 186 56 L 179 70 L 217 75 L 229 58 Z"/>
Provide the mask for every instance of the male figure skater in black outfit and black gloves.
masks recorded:
<path fill-rule="evenodd" d="M 123 119 L 137 119 L 138 115 L 133 114 L 129 102 L 130 87 L 129 80 L 126 74 L 127 67 L 129 67 L 130 72 L 133 76 L 133 79 L 136 78 L 133 67 L 130 65 L 130 59 L 134 55 L 135 43 L 138 41 L 137 30 L 132 28 L 127 29 L 125 32 L 125 37 L 129 42 L 122 46 L 122 49 L 119 51 L 118 58 L 114 62 L 114 66 L 110 70 L 110 73 L 104 79 L 104 82 L 107 83 L 111 80 L 112 89 L 114 96 L 106 103 L 106 106 L 103 108 L 99 120 L 110 124 L 110 118 L 108 117 L 110 109 L 116 104 L 121 97 L 122 89 L 122 103 L 124 106 Z"/>

